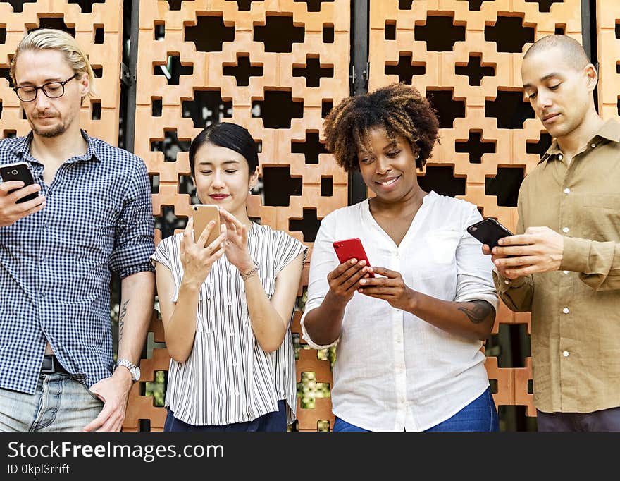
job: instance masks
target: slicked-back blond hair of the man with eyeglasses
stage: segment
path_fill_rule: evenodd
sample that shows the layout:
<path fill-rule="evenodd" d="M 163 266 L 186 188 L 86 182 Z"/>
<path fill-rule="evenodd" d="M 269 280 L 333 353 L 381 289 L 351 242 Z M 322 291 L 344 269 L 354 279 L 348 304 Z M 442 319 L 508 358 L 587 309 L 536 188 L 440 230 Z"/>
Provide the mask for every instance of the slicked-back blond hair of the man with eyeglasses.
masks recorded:
<path fill-rule="evenodd" d="M 90 84 L 90 90 L 87 93 L 86 97 L 92 97 L 95 94 L 94 91 L 94 73 L 92 71 L 92 66 L 88 61 L 88 56 L 86 52 L 80 47 L 80 44 L 77 43 L 75 38 L 71 37 L 66 32 L 62 30 L 57 30 L 55 28 L 39 28 L 38 30 L 34 30 L 28 33 L 15 51 L 15 55 L 13 55 L 13 59 L 11 59 L 11 80 L 13 80 L 13 85 L 17 85 L 15 80 L 15 65 L 18 59 L 18 56 L 21 51 L 27 50 L 58 50 L 61 51 L 66 61 L 68 61 L 73 71 L 77 74 L 86 73 L 88 75 L 88 81 Z"/>

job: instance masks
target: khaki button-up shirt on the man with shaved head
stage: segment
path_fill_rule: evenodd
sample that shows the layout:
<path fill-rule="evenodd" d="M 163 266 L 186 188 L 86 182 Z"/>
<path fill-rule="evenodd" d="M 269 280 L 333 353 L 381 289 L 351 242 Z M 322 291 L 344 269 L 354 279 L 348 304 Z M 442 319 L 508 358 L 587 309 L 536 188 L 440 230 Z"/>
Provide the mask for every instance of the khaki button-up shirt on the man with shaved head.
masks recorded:
<path fill-rule="evenodd" d="M 517 233 L 561 233 L 559 271 L 493 275 L 510 309 L 532 312 L 534 405 L 545 413 L 620 406 L 619 142 L 608 121 L 570 165 L 552 143 L 519 190 Z"/>

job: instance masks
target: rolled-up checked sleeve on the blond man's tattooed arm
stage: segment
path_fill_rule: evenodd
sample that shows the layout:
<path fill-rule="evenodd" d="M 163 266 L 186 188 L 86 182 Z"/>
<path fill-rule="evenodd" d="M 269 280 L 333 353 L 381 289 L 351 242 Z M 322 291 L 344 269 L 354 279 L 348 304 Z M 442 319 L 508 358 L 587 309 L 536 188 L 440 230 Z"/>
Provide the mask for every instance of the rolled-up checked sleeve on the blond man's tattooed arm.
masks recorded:
<path fill-rule="evenodd" d="M 109 262 L 110 269 L 120 279 L 137 272 L 154 271 L 150 262 L 155 250 L 151 186 L 147 167 L 142 159 L 138 161 L 123 197 L 116 242 Z"/>

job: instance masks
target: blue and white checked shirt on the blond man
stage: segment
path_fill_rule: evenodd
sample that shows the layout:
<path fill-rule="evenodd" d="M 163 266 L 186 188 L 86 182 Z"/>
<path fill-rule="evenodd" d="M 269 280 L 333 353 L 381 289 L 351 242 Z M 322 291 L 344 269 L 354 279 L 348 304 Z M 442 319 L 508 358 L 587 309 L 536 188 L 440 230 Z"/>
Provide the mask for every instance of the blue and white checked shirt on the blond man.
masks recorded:
<path fill-rule="evenodd" d="M 87 386 L 113 370 L 111 272 L 151 271 L 154 220 L 144 162 L 90 138 L 51 185 L 27 137 L 0 140 L 0 164 L 27 162 L 46 196 L 39 212 L 0 227 L 0 388 L 35 392 L 49 341 Z"/>

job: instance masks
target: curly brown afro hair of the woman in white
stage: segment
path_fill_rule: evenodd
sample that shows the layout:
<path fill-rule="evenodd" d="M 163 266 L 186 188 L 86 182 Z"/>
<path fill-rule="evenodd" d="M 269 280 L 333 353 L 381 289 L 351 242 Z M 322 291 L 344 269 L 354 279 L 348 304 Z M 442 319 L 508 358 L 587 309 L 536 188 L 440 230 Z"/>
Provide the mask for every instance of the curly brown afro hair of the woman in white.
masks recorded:
<path fill-rule="evenodd" d="M 373 92 L 343 99 L 325 118 L 325 145 L 345 171 L 359 171 L 357 153 L 369 150 L 368 130 L 385 128 L 387 137 L 409 140 L 421 169 L 438 142 L 435 110 L 415 87 L 392 83 Z"/>

